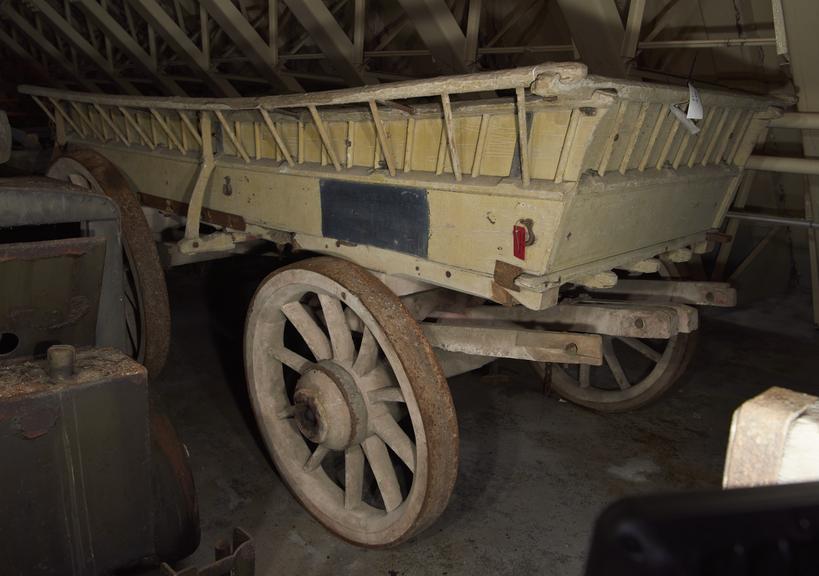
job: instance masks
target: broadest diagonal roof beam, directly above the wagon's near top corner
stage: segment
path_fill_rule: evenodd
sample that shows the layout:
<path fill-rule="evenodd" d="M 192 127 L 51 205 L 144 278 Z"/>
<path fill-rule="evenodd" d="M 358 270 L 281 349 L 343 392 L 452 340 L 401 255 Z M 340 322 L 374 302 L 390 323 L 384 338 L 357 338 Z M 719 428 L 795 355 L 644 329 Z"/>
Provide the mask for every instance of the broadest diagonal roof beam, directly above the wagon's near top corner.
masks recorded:
<path fill-rule="evenodd" d="M 623 78 L 625 30 L 614 0 L 557 0 L 583 63 L 594 74 Z"/>

